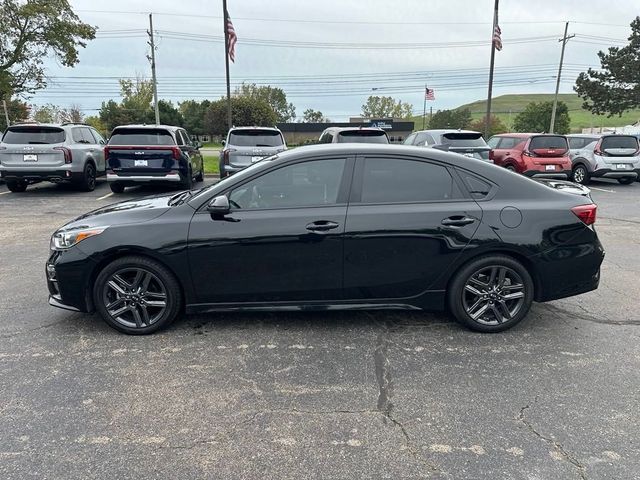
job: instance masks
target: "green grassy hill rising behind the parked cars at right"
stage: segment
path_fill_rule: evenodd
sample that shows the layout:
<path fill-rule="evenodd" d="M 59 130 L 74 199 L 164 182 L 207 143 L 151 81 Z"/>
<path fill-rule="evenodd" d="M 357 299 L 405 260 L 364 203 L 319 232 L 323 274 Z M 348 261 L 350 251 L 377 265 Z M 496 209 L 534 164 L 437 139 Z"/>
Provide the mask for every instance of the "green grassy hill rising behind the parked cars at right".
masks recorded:
<path fill-rule="evenodd" d="M 640 120 L 640 110 L 630 110 L 622 115 L 622 117 L 593 115 L 591 112 L 582 109 L 582 99 L 575 93 L 561 93 L 558 100 L 563 101 L 569 108 L 569 116 L 571 117 L 571 130 L 580 131 L 582 128 L 589 127 L 619 127 L 636 123 Z M 494 115 L 500 117 L 502 122 L 511 128 L 515 116 L 524 110 L 530 102 L 547 102 L 553 101 L 553 94 L 529 94 L 529 95 L 501 95 L 495 97 L 491 102 L 491 111 Z M 460 105 L 458 108 L 468 108 L 474 119 L 482 118 L 487 109 L 486 100 L 478 100 L 477 102 Z M 422 115 L 413 117 L 416 123 L 416 129 L 422 127 Z"/>

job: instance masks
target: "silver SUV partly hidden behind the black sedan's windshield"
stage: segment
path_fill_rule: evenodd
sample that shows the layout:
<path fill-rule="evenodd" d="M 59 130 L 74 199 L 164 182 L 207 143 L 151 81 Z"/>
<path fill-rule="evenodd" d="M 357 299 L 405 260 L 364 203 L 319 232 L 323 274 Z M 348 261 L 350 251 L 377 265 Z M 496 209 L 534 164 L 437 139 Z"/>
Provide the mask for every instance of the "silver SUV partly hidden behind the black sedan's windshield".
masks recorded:
<path fill-rule="evenodd" d="M 234 127 L 220 152 L 220 178 L 287 149 L 282 132 L 270 127 Z"/>

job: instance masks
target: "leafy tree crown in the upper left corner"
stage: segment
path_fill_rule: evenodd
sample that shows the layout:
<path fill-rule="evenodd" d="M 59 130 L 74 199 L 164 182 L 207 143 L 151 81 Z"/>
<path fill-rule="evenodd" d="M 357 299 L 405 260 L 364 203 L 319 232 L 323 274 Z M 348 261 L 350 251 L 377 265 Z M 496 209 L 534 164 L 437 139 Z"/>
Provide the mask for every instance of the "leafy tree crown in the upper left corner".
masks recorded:
<path fill-rule="evenodd" d="M 43 60 L 74 66 L 95 32 L 67 0 L 0 0 L 0 98 L 44 88 Z"/>

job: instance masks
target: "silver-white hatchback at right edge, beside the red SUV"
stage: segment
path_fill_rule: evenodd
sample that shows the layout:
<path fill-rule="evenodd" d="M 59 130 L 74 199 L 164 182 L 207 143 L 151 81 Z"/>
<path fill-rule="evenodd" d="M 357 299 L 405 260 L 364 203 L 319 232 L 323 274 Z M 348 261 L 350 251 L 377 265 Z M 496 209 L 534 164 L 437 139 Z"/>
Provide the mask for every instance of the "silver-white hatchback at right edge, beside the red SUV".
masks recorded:
<path fill-rule="evenodd" d="M 576 138 L 569 136 L 569 143 Z M 635 135 L 586 137 L 589 143 L 571 151 L 573 181 L 587 184 L 592 178 L 611 178 L 628 185 L 640 176 L 640 144 Z"/>

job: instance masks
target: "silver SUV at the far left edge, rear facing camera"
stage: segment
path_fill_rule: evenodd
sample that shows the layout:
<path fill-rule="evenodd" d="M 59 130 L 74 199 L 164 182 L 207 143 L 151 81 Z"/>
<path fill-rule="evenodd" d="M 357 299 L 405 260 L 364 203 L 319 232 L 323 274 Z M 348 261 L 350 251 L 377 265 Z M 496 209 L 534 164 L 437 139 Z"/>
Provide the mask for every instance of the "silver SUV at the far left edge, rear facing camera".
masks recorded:
<path fill-rule="evenodd" d="M 104 138 L 89 125 L 25 123 L 8 127 L 0 141 L 0 177 L 12 192 L 43 181 L 73 183 L 91 191 L 105 175 Z"/>

